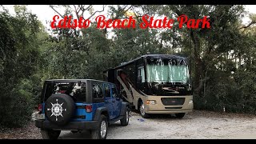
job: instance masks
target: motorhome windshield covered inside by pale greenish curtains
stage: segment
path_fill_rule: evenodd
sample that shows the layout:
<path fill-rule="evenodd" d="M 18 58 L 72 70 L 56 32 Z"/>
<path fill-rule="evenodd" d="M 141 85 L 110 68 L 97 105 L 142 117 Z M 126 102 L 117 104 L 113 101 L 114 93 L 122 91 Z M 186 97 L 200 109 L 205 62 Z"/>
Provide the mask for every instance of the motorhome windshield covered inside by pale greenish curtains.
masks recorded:
<path fill-rule="evenodd" d="M 147 82 L 182 82 L 190 77 L 188 65 L 184 59 L 148 59 Z"/>

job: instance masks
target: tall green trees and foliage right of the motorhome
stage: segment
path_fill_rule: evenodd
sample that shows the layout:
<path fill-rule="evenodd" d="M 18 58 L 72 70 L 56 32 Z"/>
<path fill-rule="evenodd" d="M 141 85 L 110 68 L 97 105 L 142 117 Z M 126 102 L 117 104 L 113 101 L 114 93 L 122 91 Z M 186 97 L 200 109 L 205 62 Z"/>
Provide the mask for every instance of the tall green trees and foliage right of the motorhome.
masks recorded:
<path fill-rule="evenodd" d="M 181 39 L 168 34 L 172 30 L 166 31 L 166 39 L 177 41 L 182 53 L 190 58 L 195 108 L 223 111 L 225 107 L 228 112 L 255 113 L 255 80 L 251 70 L 255 66 L 255 27 L 242 32 L 243 6 L 162 7 L 157 13 L 174 19 L 180 14 L 210 18 L 210 30 L 177 30 Z M 254 16 L 250 17 L 253 21 Z"/>

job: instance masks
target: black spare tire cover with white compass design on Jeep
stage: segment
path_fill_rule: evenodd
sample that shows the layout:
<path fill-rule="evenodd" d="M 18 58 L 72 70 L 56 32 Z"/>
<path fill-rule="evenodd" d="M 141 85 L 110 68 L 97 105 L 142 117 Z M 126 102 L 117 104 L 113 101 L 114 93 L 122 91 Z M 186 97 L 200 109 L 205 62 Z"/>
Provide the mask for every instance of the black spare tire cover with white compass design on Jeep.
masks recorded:
<path fill-rule="evenodd" d="M 74 100 L 67 94 L 52 94 L 46 100 L 46 118 L 57 125 L 65 125 L 73 117 Z"/>

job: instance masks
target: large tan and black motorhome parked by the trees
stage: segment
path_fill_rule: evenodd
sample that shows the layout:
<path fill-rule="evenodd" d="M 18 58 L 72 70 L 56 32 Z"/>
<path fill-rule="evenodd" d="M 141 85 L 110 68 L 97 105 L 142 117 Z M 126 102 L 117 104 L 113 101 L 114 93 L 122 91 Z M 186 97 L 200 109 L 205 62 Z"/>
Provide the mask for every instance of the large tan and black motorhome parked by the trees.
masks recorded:
<path fill-rule="evenodd" d="M 183 118 L 194 108 L 188 58 L 169 54 L 146 54 L 103 72 L 122 98 L 150 114 L 175 114 Z"/>

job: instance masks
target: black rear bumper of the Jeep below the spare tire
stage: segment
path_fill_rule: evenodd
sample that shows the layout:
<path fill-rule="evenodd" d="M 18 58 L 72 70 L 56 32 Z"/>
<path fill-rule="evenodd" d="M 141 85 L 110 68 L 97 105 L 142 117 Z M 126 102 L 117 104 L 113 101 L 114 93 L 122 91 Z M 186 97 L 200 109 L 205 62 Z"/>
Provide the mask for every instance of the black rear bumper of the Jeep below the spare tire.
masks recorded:
<path fill-rule="evenodd" d="M 45 130 L 96 130 L 98 121 L 69 122 L 64 126 L 58 126 L 49 121 L 36 120 L 35 126 Z"/>

